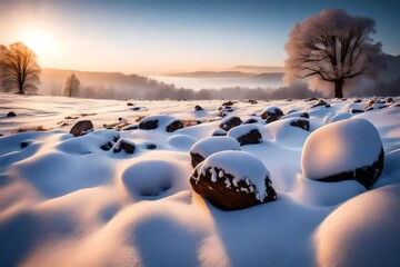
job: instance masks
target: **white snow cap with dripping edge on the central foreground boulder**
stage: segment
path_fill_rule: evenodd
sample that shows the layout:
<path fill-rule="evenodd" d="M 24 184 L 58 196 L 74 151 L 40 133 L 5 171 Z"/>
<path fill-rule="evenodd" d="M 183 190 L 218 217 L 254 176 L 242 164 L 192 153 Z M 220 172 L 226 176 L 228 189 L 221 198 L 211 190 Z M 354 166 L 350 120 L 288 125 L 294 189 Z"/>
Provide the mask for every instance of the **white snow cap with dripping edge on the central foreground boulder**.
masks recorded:
<path fill-rule="evenodd" d="M 239 181 L 256 187 L 256 198 L 260 201 L 267 197 L 266 177 L 270 178 L 270 172 L 256 156 L 246 151 L 221 151 L 208 157 L 203 164 L 199 165 L 199 172 L 206 176 L 207 170 L 212 170 L 211 180 L 213 182 L 223 176 L 217 174 L 217 169 L 223 170 L 233 177 L 232 184 L 227 179 L 224 184 L 227 188 L 238 187 Z"/>

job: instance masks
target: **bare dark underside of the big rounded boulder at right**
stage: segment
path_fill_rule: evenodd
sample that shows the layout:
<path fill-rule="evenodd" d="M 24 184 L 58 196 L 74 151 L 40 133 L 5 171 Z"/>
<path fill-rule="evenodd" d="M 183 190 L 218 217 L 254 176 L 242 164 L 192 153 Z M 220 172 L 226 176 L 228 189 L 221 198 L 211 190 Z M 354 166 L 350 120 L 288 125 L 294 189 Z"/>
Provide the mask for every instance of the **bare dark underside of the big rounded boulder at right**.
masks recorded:
<path fill-rule="evenodd" d="M 378 159 L 370 166 L 357 168 L 353 171 L 346 171 L 338 175 L 332 175 L 318 179 L 320 181 L 341 181 L 341 180 L 357 180 L 369 189 L 378 179 L 383 170 L 384 151 L 383 148 L 379 154 Z"/>

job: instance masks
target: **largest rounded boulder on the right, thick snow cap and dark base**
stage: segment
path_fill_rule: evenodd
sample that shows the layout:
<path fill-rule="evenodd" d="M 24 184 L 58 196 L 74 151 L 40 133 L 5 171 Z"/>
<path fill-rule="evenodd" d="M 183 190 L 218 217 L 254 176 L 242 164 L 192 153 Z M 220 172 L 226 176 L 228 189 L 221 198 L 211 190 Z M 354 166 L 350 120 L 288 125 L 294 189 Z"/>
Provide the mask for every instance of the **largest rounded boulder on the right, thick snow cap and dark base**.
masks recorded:
<path fill-rule="evenodd" d="M 306 140 L 304 177 L 321 181 L 357 180 L 370 188 L 383 169 L 378 130 L 364 119 L 348 119 L 313 131 Z"/>

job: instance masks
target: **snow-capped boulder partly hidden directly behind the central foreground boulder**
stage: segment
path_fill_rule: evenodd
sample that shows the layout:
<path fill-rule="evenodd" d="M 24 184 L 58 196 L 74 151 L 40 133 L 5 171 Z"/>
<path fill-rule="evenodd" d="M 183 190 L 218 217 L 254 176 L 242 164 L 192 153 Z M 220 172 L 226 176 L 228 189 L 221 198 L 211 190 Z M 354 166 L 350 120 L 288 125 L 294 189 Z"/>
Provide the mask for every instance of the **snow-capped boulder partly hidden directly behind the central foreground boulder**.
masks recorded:
<path fill-rule="evenodd" d="M 226 136 L 203 138 L 190 148 L 191 165 L 194 168 L 210 155 L 224 150 L 240 150 L 240 145 L 234 138 Z"/>

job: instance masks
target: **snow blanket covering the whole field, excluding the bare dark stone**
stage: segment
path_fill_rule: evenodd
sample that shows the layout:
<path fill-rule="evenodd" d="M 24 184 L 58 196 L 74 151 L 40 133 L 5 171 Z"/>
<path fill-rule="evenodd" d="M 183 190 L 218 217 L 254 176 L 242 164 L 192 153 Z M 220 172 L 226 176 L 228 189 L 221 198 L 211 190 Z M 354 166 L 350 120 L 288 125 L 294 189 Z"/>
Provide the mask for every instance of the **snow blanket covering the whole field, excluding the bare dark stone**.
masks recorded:
<path fill-rule="evenodd" d="M 400 98 L 349 112 L 371 99 L 330 99 L 329 108 L 310 108 L 317 100 L 239 101 L 221 118 L 222 100 L 2 93 L 0 266 L 400 266 Z M 286 116 L 266 123 L 260 116 L 271 107 Z M 6 117 L 9 111 L 17 116 Z M 192 126 L 168 132 L 171 117 L 161 116 L 157 129 L 132 129 L 138 118 L 156 115 Z M 193 146 L 223 134 L 217 129 L 230 116 L 254 122 L 232 128 L 230 138 L 256 129 L 260 144 Z M 308 121 L 309 131 L 292 126 L 297 119 Z M 91 120 L 96 130 L 73 137 L 69 130 L 79 120 Z M 38 127 L 48 130 L 16 134 Z M 121 140 L 134 151 L 119 151 Z M 383 171 L 369 189 L 357 180 L 319 179 L 373 164 L 381 145 Z M 217 208 L 191 187 L 191 148 L 228 149 L 206 155 L 200 172 L 218 165 L 253 181 L 258 200 L 267 175 L 277 200 Z"/>

